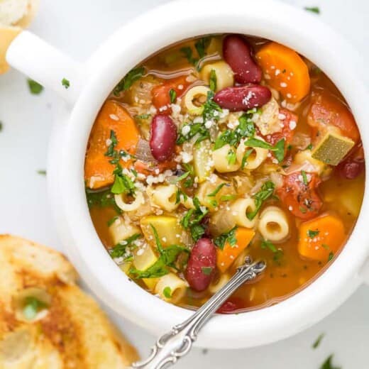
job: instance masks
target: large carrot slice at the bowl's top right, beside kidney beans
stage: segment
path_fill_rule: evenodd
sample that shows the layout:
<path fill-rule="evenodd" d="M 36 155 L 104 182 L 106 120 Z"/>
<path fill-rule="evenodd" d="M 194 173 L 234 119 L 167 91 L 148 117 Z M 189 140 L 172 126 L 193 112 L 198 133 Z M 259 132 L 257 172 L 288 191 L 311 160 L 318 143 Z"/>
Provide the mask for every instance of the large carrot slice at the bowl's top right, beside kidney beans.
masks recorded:
<path fill-rule="evenodd" d="M 294 50 L 268 43 L 256 54 L 268 84 L 291 103 L 301 101 L 310 90 L 309 69 Z"/>

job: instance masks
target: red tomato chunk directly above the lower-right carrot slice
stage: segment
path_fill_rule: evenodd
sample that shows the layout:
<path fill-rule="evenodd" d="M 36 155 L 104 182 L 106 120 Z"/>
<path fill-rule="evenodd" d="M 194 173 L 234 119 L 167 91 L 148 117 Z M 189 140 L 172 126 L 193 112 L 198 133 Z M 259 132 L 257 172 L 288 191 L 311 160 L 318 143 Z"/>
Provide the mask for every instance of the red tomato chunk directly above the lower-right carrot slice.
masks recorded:
<path fill-rule="evenodd" d="M 323 202 L 316 193 L 321 180 L 316 173 L 307 173 L 307 183 L 301 172 L 287 175 L 277 195 L 294 216 L 300 219 L 312 219 L 321 209 Z"/>

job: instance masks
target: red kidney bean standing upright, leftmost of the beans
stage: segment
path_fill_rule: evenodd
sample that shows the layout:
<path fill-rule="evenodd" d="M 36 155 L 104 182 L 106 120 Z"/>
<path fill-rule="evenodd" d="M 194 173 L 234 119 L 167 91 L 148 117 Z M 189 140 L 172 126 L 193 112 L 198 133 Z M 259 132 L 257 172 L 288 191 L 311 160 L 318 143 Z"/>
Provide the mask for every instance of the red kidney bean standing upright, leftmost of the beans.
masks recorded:
<path fill-rule="evenodd" d="M 151 122 L 150 150 L 153 157 L 163 162 L 168 160 L 175 151 L 177 127 L 170 116 L 157 114 Z"/>

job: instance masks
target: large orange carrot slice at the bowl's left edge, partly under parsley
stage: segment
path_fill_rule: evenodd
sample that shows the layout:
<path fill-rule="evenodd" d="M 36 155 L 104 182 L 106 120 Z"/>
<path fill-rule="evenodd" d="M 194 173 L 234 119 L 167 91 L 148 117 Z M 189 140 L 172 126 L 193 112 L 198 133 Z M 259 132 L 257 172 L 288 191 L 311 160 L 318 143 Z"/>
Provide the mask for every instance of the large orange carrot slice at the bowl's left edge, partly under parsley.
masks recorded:
<path fill-rule="evenodd" d="M 111 131 L 117 139 L 116 150 L 136 153 L 139 139 L 138 128 L 128 111 L 116 101 L 106 101 L 92 127 L 87 145 L 86 161 L 84 163 L 84 180 L 87 187 L 98 189 L 114 182 L 114 165 L 111 158 L 105 155 Z M 123 164 L 128 165 L 128 163 Z"/>

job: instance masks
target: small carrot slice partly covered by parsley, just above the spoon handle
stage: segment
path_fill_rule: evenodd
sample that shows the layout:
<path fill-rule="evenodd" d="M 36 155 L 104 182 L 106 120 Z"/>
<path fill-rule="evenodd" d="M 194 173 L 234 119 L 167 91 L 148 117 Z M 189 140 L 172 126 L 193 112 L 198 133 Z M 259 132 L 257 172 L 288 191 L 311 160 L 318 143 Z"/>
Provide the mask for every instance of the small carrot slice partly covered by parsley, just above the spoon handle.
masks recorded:
<path fill-rule="evenodd" d="M 250 241 L 255 236 L 255 231 L 249 228 L 239 227 L 236 229 L 236 244 L 231 246 L 227 241 L 223 250 L 218 248 L 216 250 L 216 265 L 218 269 L 224 273 L 233 263 L 234 260 L 242 253 L 248 246 Z"/>

